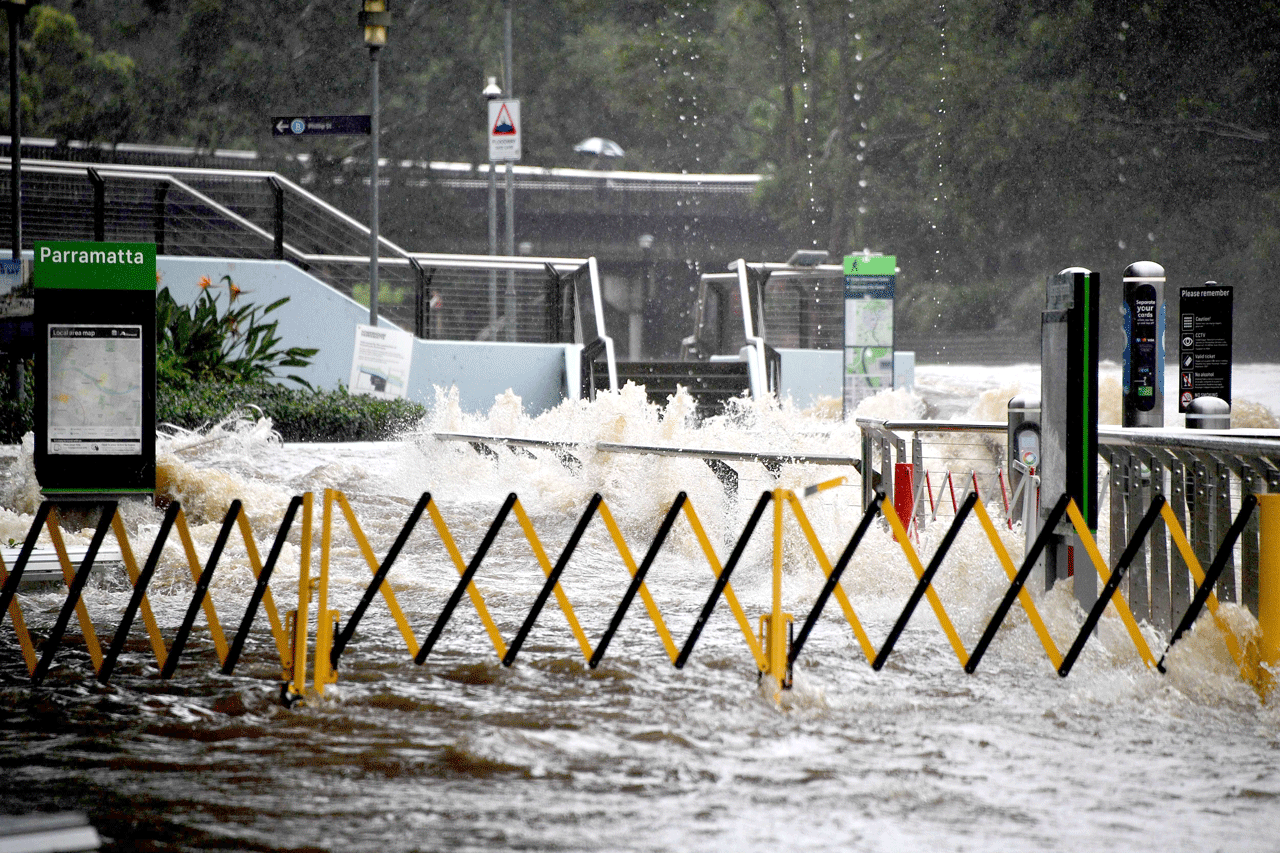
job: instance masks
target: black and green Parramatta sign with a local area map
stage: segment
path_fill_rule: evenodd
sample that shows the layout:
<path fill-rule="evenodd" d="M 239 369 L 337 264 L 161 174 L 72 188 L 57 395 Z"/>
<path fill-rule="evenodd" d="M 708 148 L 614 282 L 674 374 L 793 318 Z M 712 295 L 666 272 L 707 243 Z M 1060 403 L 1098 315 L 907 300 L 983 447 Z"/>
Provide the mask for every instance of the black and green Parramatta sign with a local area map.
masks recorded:
<path fill-rule="evenodd" d="M 154 494 L 155 245 L 37 242 L 32 280 L 41 491 Z"/>

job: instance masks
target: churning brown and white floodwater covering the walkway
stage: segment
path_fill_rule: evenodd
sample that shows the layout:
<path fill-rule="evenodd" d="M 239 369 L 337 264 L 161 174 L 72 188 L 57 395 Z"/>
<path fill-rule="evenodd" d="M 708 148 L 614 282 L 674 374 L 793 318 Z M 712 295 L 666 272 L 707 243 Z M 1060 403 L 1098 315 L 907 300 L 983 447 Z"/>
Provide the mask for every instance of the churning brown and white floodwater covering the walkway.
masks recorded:
<path fill-rule="evenodd" d="M 868 412 L 915 418 L 932 407 L 945 416 L 998 419 L 1011 393 L 1030 389 L 1033 370 L 922 366 L 919 396 L 886 394 Z M 1238 368 L 1236 396 L 1280 411 L 1277 377 L 1274 365 Z M 334 488 L 379 556 L 430 491 L 465 560 L 516 492 L 552 562 L 599 492 L 639 561 L 685 491 L 723 561 L 762 491 L 801 489 L 849 471 L 787 465 L 774 478 L 740 465 L 733 500 L 696 460 L 591 450 L 579 452 L 580 465 L 536 451 L 503 450 L 490 459 L 430 432 L 849 455 L 859 447 L 856 429 L 822 412 L 746 407 L 692 426 L 682 418 L 687 409 L 677 398 L 663 418 L 627 389 L 530 419 L 512 398 L 468 415 L 443 397 L 433 423 L 399 442 L 282 444 L 269 424 L 229 424 L 164 439 L 160 466 L 189 514 L 201 557 L 230 500 L 244 501 L 265 553 L 291 496 Z M 36 500 L 29 455 L 9 466 L 0 485 L 8 507 L 0 510 L 0 538 L 20 540 Z M 835 558 L 858 523 L 856 476 L 803 505 Z M 125 515 L 134 551 L 145 555 L 160 512 L 131 507 Z M 317 532 L 320 516 L 317 502 Z M 753 624 L 771 601 L 771 525 L 772 512 L 732 578 Z M 822 571 L 795 523 L 786 525 L 783 599 L 803 617 Z M 330 606 L 346 620 L 371 575 L 344 523 L 335 530 Z M 924 560 L 942 532 L 924 530 Z M 1005 533 L 1018 558 L 1021 537 Z M 70 540 L 87 542 L 87 532 Z M 211 587 L 228 630 L 252 589 L 243 547 L 234 543 Z M 298 553 L 294 534 L 273 580 L 282 610 L 296 601 Z M 628 578 L 603 524 L 593 521 L 562 576 L 593 643 Z M 682 517 L 648 580 L 677 644 L 712 580 Z M 424 517 L 390 574 L 419 642 L 456 583 Z M 476 575 L 508 643 L 541 583 L 530 544 L 508 520 Z M 914 583 L 899 546 L 873 526 L 844 585 L 877 646 Z M 968 648 L 1005 585 L 986 537 L 966 525 L 936 587 Z M 1065 648 L 1083 615 L 1065 590 L 1030 587 Z M 91 581 L 87 601 L 104 638 L 128 592 L 110 574 Z M 151 587 L 170 639 L 189 596 L 188 569 L 170 548 Z M 24 592 L 27 624 L 47 630 L 61 599 Z M 1222 610 L 1233 631 L 1243 637 L 1252 628 L 1247 612 Z M 1151 628 L 1144 633 L 1158 654 L 1164 638 Z M 279 658 L 262 617 L 232 676 L 218 674 L 204 620 L 169 681 L 159 678 L 141 625 L 108 686 L 93 680 L 83 649 L 73 621 L 45 684 L 32 688 L 12 622 L 0 626 L 0 812 L 84 811 L 114 850 L 1280 847 L 1280 712 L 1240 679 L 1220 629 L 1208 622 L 1175 647 L 1167 675 L 1160 675 L 1143 666 L 1108 615 L 1070 678 L 1060 679 L 1015 608 L 982 667 L 966 675 L 922 605 L 887 666 L 873 671 L 833 602 L 781 702 L 758 684 L 723 601 L 682 670 L 671 665 L 639 599 L 591 670 L 554 598 L 511 667 L 499 662 L 468 599 L 422 666 L 378 599 L 343 654 L 338 683 L 324 699 L 292 708 L 278 701 Z"/>

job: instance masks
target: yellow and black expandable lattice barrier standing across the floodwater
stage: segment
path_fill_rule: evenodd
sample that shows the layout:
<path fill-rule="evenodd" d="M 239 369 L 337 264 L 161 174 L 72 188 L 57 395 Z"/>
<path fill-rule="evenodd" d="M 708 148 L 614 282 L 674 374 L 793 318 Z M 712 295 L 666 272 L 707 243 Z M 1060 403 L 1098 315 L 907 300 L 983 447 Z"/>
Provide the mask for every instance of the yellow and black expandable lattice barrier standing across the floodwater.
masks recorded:
<path fill-rule="evenodd" d="M 582 515 L 573 528 L 572 534 L 564 544 L 564 548 L 561 551 L 558 558 L 552 562 L 536 532 L 534 530 L 531 520 L 515 493 L 509 494 L 498 510 L 498 514 L 489 524 L 488 530 L 485 532 L 470 561 L 463 558 L 448 524 L 429 492 L 424 493 L 417 501 L 404 525 L 396 537 L 394 543 L 387 555 L 379 560 L 361 530 L 358 519 L 352 511 L 347 498 L 340 492 L 326 489 L 323 498 L 320 567 L 319 575 L 315 579 L 311 576 L 312 496 L 310 493 L 294 497 L 291 501 L 265 564 L 259 558 L 252 529 L 250 528 L 248 519 L 244 516 L 238 501 L 233 502 L 229 507 L 227 516 L 223 520 L 221 530 L 204 565 L 201 565 L 198 555 L 196 553 L 195 546 L 191 540 L 182 510 L 175 503 L 170 506 L 165 514 L 165 520 L 161 524 L 155 543 L 152 544 L 150 556 L 141 570 L 133 557 L 132 548 L 129 547 L 128 538 L 124 533 L 124 526 L 116 514 L 115 505 L 106 505 L 102 507 L 101 519 L 93 533 L 91 546 L 83 562 L 81 564 L 81 567 L 76 570 L 72 567 L 70 560 L 67 556 L 67 549 L 63 544 L 56 508 L 52 505 L 45 503 L 36 515 L 36 520 L 32 524 L 26 542 L 23 543 L 22 552 L 15 561 L 13 571 L 6 573 L 3 561 L 0 561 L 0 580 L 3 580 L 3 588 L 0 588 L 0 617 L 3 617 L 4 612 L 10 615 L 14 630 L 18 634 L 19 644 L 22 646 L 23 654 L 27 661 L 28 671 L 32 675 L 33 683 L 38 684 L 49 671 L 54 654 L 58 651 L 58 646 L 61 643 L 63 634 L 65 633 L 73 612 L 76 612 L 79 617 L 84 640 L 90 647 L 90 656 L 97 671 L 97 678 L 106 681 L 111 675 L 115 660 L 123 648 L 128 631 L 140 612 L 147 625 L 151 647 L 160 667 L 160 676 L 168 679 L 175 672 L 178 657 L 182 654 L 195 621 L 201 611 L 205 612 L 209 630 L 212 634 L 221 671 L 230 674 L 239 657 L 244 639 L 253 625 L 256 613 L 259 610 L 265 610 L 270 621 L 271 634 L 280 654 L 283 678 L 282 698 L 287 703 L 292 703 L 293 701 L 306 695 L 308 692 L 323 694 L 325 685 L 337 681 L 342 656 L 349 648 L 360 621 L 379 594 L 383 597 L 403 637 L 410 657 L 419 665 L 424 665 L 428 661 L 463 597 L 467 597 L 472 607 L 476 610 L 476 613 L 485 628 L 498 658 L 506 666 L 513 665 L 521 648 L 532 633 L 539 616 L 554 596 L 557 605 L 566 616 L 570 630 L 573 634 L 588 666 L 593 669 L 599 666 L 604 658 L 605 652 L 614 639 L 618 628 L 626 619 L 627 612 L 635 603 L 636 597 L 644 602 L 649 621 L 653 624 L 668 658 L 677 669 L 682 669 L 689 662 L 699 637 L 718 608 L 721 599 L 723 599 L 744 637 L 748 652 L 751 656 L 760 678 L 768 678 L 776 688 L 776 693 L 790 686 L 792 667 L 795 666 L 796 660 L 799 660 L 814 625 L 822 616 L 823 610 L 829 603 L 831 598 L 835 598 L 838 603 L 845 620 L 852 630 L 859 648 L 874 670 L 879 670 L 884 666 L 915 610 L 922 602 L 927 601 L 937 617 L 938 625 L 950 642 L 960 666 L 969 674 L 974 674 L 978 670 L 978 665 L 987 653 L 991 643 L 995 640 L 996 633 L 1015 603 L 1021 606 L 1027 612 L 1029 624 L 1039 638 L 1050 662 L 1060 676 L 1066 676 L 1071 671 L 1088 639 L 1094 634 L 1094 629 L 1097 628 L 1103 611 L 1108 606 L 1115 608 L 1120 620 L 1124 622 L 1128 635 L 1140 658 L 1148 667 L 1162 671 L 1165 656 L 1157 660 L 1152 653 L 1147 640 L 1139 630 L 1137 621 L 1124 601 L 1124 596 L 1120 592 L 1121 579 L 1133 562 L 1135 555 L 1139 552 L 1144 538 L 1148 535 L 1157 519 L 1162 520 L 1165 525 L 1167 525 L 1171 540 L 1181 552 L 1197 584 L 1196 596 L 1193 597 L 1190 606 L 1169 642 L 1169 647 L 1171 647 L 1190 628 L 1204 608 L 1210 611 L 1212 617 L 1217 619 L 1217 601 L 1213 594 L 1213 585 L 1224 569 L 1230 564 L 1229 557 L 1235 540 L 1261 501 L 1261 506 L 1263 508 L 1261 512 L 1262 520 L 1260 528 L 1263 533 L 1263 560 L 1262 571 L 1260 573 L 1262 575 L 1260 581 L 1262 584 L 1260 601 L 1265 605 L 1262 608 L 1262 616 L 1260 617 L 1262 634 L 1261 643 L 1256 649 L 1242 649 L 1240 644 L 1229 630 L 1224 630 L 1224 635 L 1242 674 L 1253 681 L 1253 684 L 1258 686 L 1260 692 L 1268 688 L 1266 667 L 1260 666 L 1260 663 L 1275 663 L 1276 658 L 1280 657 L 1280 558 L 1277 558 L 1276 555 L 1277 543 L 1280 543 L 1280 496 L 1262 496 L 1261 500 L 1254 500 L 1253 497 L 1245 498 L 1244 505 L 1228 530 L 1226 537 L 1221 543 L 1219 543 L 1215 560 L 1206 571 L 1202 570 L 1201 564 L 1188 543 L 1174 512 L 1169 505 L 1158 497 L 1148 507 L 1142 523 L 1134 529 L 1128 546 L 1120 555 L 1120 558 L 1114 567 L 1107 566 L 1083 516 L 1074 502 L 1068 500 L 1065 496 L 1053 505 L 1041 534 L 1034 539 L 1032 547 L 1027 551 L 1021 565 L 1015 567 L 1012 558 L 1001 543 L 998 530 L 986 507 L 978 500 L 977 493 L 970 492 L 959 507 L 955 517 L 951 520 L 950 528 L 929 558 L 928 565 L 924 565 L 911 544 L 911 538 L 906 534 L 902 520 L 893 511 L 893 507 L 886 502 L 882 493 L 877 493 L 874 496 L 874 500 L 864 511 L 847 544 L 844 547 L 838 557 L 832 561 L 823 549 L 822 544 L 818 542 L 814 528 L 804 511 L 803 497 L 814 494 L 833 485 L 838 485 L 840 483 L 840 479 L 822 483 L 805 489 L 803 494 L 797 494 L 790 489 L 773 489 L 763 492 L 753 507 L 741 534 L 733 543 L 728 558 L 723 564 L 717 556 L 692 503 L 684 492 L 677 494 L 673 500 L 671 507 L 663 516 L 653 540 L 649 543 L 643 558 L 639 562 L 635 560 L 635 556 L 623 539 L 622 532 L 614 521 L 607 503 L 599 494 L 593 496 L 588 502 Z M 750 617 L 733 593 L 731 578 L 735 569 L 741 562 L 748 543 L 762 526 L 760 523 L 764 520 L 765 512 L 771 508 L 771 506 L 773 510 L 772 606 L 769 612 L 759 616 L 758 626 L 753 630 Z M 795 634 L 792 634 L 792 628 L 797 622 L 791 613 L 783 612 L 782 608 L 782 567 L 785 557 L 782 532 L 783 514 L 787 508 L 790 508 L 790 512 L 803 532 L 818 566 L 826 575 L 826 581 L 820 592 L 815 597 L 805 619 L 800 620 L 799 633 Z M 285 624 L 282 625 L 275 603 L 271 598 L 270 579 L 273 569 L 279 558 L 282 546 L 289 535 L 300 510 L 302 515 L 302 547 L 300 549 L 298 603 L 297 608 L 287 615 Z M 364 590 L 364 594 L 361 596 L 357 606 L 352 610 L 352 613 L 344 625 L 339 624 L 339 613 L 329 606 L 330 560 L 333 555 L 333 538 L 337 530 L 339 515 L 346 521 L 346 526 L 355 538 L 361 556 L 372 574 L 370 584 Z M 430 517 L 431 525 L 448 553 L 449 561 L 454 565 L 458 573 L 458 580 L 453 587 L 452 593 L 444 601 L 438 616 L 431 622 L 425 639 L 420 643 L 412 626 L 396 601 L 396 596 L 392 592 L 390 585 L 387 583 L 387 579 L 397 558 L 408 546 L 410 537 L 424 515 Z M 591 640 L 582 630 L 575 615 L 573 607 L 568 601 L 568 597 L 564 594 L 559 581 L 564 571 L 568 569 L 570 560 L 579 547 L 586 529 L 596 516 L 608 530 L 614 548 L 630 575 L 630 583 L 613 611 L 608 628 L 593 646 Z M 712 574 L 712 585 L 687 638 L 682 644 L 677 646 L 646 587 L 646 578 L 650 569 L 658 560 L 662 547 L 669 537 L 672 528 L 681 516 L 684 516 L 689 524 L 707 560 L 708 569 Z M 475 576 L 500 529 L 512 517 L 516 524 L 518 524 L 521 533 L 529 543 L 535 561 L 544 573 L 545 580 L 529 612 L 521 621 L 516 635 L 508 644 L 489 613 L 484 596 L 476 587 Z M 933 578 L 942 566 L 942 562 L 956 540 L 961 528 L 969 523 L 970 519 L 977 519 L 977 523 L 986 532 L 992 551 L 1009 579 L 1009 588 L 1005 596 L 995 608 L 991 619 L 987 621 L 986 629 L 982 631 L 980 638 L 972 651 L 965 648 L 959 633 L 947 616 L 936 589 L 933 588 Z M 1050 635 L 1043 619 L 1041 619 L 1036 608 L 1034 601 L 1025 589 L 1027 581 L 1030 578 L 1041 553 L 1050 542 L 1050 535 L 1059 528 L 1064 519 L 1066 519 L 1070 526 L 1074 528 L 1076 535 L 1079 537 L 1079 544 L 1083 552 L 1088 556 L 1089 562 L 1093 565 L 1102 581 L 1101 594 L 1098 596 L 1096 603 L 1089 608 L 1080 630 L 1065 653 L 1059 649 L 1053 638 Z M 841 587 L 842 574 L 847 570 L 854 553 L 864 542 L 867 532 L 873 524 L 877 523 L 887 525 L 890 532 L 893 534 L 896 546 L 902 549 L 902 553 L 916 578 L 916 583 L 908 597 L 902 611 L 895 620 L 888 635 L 879 648 L 877 648 L 872 642 L 865 628 L 859 620 L 856 611 L 854 610 L 852 602 Z M 41 530 L 45 528 L 47 528 L 49 537 L 59 555 L 69 592 L 67 601 L 49 634 L 49 639 L 45 643 L 44 654 L 37 660 L 36 647 L 31 642 L 15 593 L 23 567 L 35 548 Z M 239 629 L 237 630 L 233 642 L 228 644 L 219 625 L 214 602 L 209 596 L 209 584 L 212 579 L 212 574 L 223 548 L 225 547 L 233 530 L 237 528 L 239 529 L 241 538 L 244 542 L 253 574 L 257 578 L 257 585 L 250 598 L 250 602 L 247 603 Z M 131 581 L 133 583 L 133 596 L 124 611 L 123 617 L 120 619 L 120 624 L 116 628 L 110 649 L 104 654 L 93 631 L 92 621 L 90 620 L 82 601 L 81 592 L 83 590 L 93 558 L 105 539 L 108 530 L 114 532 L 115 538 L 120 544 L 123 562 L 129 573 Z M 178 532 L 186 553 L 195 583 L 195 593 L 180 628 L 173 637 L 170 644 L 166 647 L 155 619 L 151 615 L 146 598 L 146 589 L 160 558 L 165 540 L 172 535 L 173 530 Z M 1076 562 L 1079 567 L 1083 561 L 1078 560 Z M 308 633 L 311 624 L 310 608 L 312 594 L 316 596 L 317 613 L 314 647 L 315 665 L 310 672 L 311 678 L 308 685 L 307 652 L 311 643 Z M 1169 648 L 1165 649 L 1165 654 L 1167 654 L 1167 652 Z"/>

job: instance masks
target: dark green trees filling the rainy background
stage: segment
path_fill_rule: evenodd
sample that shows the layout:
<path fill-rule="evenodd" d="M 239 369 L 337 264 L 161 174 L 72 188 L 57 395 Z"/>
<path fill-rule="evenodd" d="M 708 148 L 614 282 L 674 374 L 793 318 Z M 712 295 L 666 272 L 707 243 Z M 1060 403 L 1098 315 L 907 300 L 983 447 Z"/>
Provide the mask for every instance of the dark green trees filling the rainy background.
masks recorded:
<path fill-rule="evenodd" d="M 1257 329 L 1280 323 L 1267 298 L 1267 199 L 1280 192 L 1274 1 L 511 5 L 508 95 L 526 117 L 526 163 L 588 165 L 573 143 L 607 136 L 627 151 L 608 165 L 768 175 L 759 202 L 782 241 L 836 257 L 893 252 L 904 287 L 936 288 L 964 316 L 975 314 L 969 296 L 991 305 L 984 282 L 1155 260 L 1171 280 L 1176 270 L 1240 286 L 1238 315 Z M 366 140 L 264 138 L 266 115 L 366 109 L 355 12 L 340 0 L 271 14 L 251 0 L 49 0 L 24 23 L 26 128 L 264 159 L 305 151 L 308 188 L 360 215 L 367 193 L 352 173 Z M 504 77 L 500 4 L 417 3 L 396 15 L 379 54 L 383 155 L 484 161 L 479 91 Z M 484 228 L 445 187 L 392 178 L 389 192 L 385 232 L 406 246 L 448 251 Z M 760 236 L 728 243 L 690 260 L 754 257 Z"/>

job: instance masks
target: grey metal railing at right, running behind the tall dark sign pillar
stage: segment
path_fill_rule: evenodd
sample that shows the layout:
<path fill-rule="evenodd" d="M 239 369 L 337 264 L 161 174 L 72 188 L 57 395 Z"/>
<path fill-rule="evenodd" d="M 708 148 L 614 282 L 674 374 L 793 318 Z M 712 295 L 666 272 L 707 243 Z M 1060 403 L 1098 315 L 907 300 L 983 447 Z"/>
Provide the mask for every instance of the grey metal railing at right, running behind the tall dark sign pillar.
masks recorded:
<path fill-rule="evenodd" d="M 955 497 L 975 489 L 992 506 L 1005 506 L 1006 519 L 1019 517 L 1019 471 L 1010 471 L 1007 424 L 858 419 L 863 434 L 864 507 L 878 487 L 895 494 L 895 471 L 910 467 L 911 517 L 927 524 L 954 512 Z M 1280 438 L 1151 429 L 1098 430 L 1100 482 L 1106 483 L 1100 540 L 1115 564 L 1144 512 L 1157 496 L 1166 498 L 1202 565 L 1216 556 L 1248 496 L 1280 491 Z M 1029 478 L 1029 488 L 1037 480 Z M 940 488 L 941 487 L 941 488 Z M 931 489 L 933 492 L 931 493 Z M 941 512 L 940 512 L 941 510 Z M 1034 528 L 1024 529 L 1028 540 Z M 1258 612 L 1258 523 L 1251 517 L 1216 587 L 1220 599 L 1240 602 Z M 1187 610 L 1194 584 L 1170 532 L 1156 523 L 1129 569 L 1121 592 L 1134 616 L 1169 629 Z"/>

